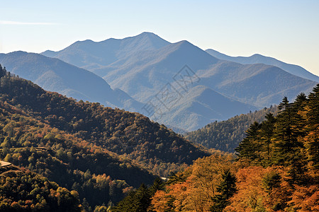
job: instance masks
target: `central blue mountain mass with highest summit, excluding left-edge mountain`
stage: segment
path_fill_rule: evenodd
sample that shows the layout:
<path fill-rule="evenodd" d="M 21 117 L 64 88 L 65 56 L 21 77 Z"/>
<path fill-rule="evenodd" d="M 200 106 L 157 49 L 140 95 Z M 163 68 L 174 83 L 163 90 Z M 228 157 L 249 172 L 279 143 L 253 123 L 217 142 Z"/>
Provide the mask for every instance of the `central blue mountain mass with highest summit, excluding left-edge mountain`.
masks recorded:
<path fill-rule="evenodd" d="M 111 88 L 143 102 L 138 112 L 181 131 L 269 107 L 283 96 L 295 98 L 315 86 L 314 81 L 275 66 L 221 61 L 186 40 L 170 43 L 153 33 L 122 40 L 75 42 L 59 52 L 43 54 L 89 69 Z M 167 97 L 166 102 L 159 100 L 164 95 L 170 95 L 169 106 Z M 223 102 L 228 110 L 219 100 L 230 100 Z M 150 112 L 145 107 L 153 108 Z"/>

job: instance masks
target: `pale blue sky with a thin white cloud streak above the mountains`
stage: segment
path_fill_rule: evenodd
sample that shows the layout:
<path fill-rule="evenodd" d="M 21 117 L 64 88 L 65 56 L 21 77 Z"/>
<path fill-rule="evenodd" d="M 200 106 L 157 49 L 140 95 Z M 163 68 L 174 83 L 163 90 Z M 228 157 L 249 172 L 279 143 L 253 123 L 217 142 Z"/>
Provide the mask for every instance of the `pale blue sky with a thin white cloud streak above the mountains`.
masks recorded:
<path fill-rule="evenodd" d="M 230 56 L 263 54 L 319 75 L 318 0 L 1 0 L 1 53 L 57 51 L 145 31 Z"/>

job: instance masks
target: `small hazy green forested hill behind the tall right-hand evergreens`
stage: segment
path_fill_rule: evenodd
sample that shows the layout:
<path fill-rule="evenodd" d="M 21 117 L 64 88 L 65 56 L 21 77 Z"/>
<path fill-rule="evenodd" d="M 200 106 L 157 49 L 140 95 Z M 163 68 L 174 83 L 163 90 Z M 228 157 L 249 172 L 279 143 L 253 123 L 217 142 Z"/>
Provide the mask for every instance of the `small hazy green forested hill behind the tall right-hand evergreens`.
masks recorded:
<path fill-rule="evenodd" d="M 215 148 L 220 151 L 235 152 L 240 141 L 245 138 L 245 131 L 253 122 L 262 122 L 267 113 L 276 114 L 276 106 L 256 110 L 249 114 L 240 114 L 226 121 L 213 122 L 201 129 L 185 134 L 191 142 L 201 144 L 206 148 Z"/>

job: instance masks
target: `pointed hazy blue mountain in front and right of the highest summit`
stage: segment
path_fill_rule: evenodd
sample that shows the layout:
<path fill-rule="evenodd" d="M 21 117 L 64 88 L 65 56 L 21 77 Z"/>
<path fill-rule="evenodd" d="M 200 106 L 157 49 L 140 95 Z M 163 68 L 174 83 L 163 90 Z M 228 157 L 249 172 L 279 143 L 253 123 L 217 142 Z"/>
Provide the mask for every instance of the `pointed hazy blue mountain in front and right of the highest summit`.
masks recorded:
<path fill-rule="evenodd" d="M 136 100 L 145 102 L 167 83 L 186 64 L 192 70 L 208 69 L 218 59 L 187 41 L 166 45 L 153 51 L 125 57 L 110 66 L 94 69 L 94 73 L 120 88 Z"/>

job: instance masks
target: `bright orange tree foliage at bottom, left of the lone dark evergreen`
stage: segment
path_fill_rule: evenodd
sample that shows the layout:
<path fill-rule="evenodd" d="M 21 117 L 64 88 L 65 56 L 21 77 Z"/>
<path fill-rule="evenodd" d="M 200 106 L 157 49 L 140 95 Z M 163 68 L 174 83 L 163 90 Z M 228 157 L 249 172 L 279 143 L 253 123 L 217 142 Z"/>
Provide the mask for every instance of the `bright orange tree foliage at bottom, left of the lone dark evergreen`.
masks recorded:
<path fill-rule="evenodd" d="M 212 198 L 218 192 L 221 174 L 225 170 L 235 170 L 232 155 L 215 154 L 200 158 L 183 174 L 183 182 L 167 186 L 166 192 L 158 191 L 152 198 L 155 211 L 210 211 Z"/>

